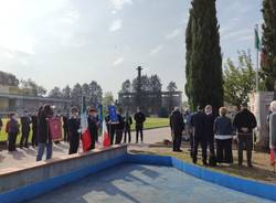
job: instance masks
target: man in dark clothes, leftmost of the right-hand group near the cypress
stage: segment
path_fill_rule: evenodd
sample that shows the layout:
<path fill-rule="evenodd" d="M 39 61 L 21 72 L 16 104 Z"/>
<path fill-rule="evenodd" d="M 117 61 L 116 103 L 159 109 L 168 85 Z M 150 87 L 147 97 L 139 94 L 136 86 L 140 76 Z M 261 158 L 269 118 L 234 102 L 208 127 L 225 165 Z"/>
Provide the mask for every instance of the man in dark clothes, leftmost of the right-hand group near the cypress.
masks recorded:
<path fill-rule="evenodd" d="M 173 151 L 181 152 L 181 139 L 182 131 L 184 129 L 184 119 L 179 108 L 176 107 L 174 110 L 170 115 L 170 127 L 173 138 Z"/>

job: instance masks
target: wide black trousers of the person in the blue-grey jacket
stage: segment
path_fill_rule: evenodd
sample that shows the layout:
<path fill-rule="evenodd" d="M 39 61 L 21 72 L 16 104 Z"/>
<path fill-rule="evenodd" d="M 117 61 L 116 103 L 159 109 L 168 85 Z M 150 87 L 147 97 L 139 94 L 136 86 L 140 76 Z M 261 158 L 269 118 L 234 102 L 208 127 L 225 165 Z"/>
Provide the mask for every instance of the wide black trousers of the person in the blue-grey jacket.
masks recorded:
<path fill-rule="evenodd" d="M 215 139 L 216 161 L 219 163 L 233 163 L 232 139 Z"/>

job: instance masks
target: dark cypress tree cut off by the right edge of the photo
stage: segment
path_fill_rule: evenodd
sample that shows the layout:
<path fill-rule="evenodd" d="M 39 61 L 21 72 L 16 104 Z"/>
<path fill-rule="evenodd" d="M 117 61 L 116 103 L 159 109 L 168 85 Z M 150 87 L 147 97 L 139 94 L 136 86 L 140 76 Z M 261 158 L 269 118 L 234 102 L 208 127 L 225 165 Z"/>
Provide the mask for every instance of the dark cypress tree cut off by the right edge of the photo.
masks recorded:
<path fill-rule="evenodd" d="M 274 90 L 276 82 L 276 1 L 264 0 L 263 9 L 263 57 L 262 71 L 266 90 Z"/>

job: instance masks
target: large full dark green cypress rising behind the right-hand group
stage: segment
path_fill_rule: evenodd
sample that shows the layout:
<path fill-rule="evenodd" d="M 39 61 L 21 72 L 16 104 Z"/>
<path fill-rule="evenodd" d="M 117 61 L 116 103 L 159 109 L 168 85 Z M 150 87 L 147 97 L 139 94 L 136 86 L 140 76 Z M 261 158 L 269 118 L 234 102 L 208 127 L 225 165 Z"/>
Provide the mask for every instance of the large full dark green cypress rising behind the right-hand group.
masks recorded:
<path fill-rule="evenodd" d="M 223 77 L 215 0 L 192 0 L 185 33 L 185 93 L 192 110 L 197 106 L 223 105 Z"/>

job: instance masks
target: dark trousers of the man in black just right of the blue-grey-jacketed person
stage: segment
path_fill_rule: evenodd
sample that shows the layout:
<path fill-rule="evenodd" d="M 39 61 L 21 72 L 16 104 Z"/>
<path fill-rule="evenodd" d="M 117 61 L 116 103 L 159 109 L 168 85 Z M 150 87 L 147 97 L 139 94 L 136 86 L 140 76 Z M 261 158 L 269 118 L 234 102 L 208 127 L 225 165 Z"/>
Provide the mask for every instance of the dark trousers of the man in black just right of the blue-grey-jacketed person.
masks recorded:
<path fill-rule="evenodd" d="M 247 165 L 252 164 L 253 135 L 237 135 L 238 164 L 243 164 L 243 150 L 246 150 Z"/>

